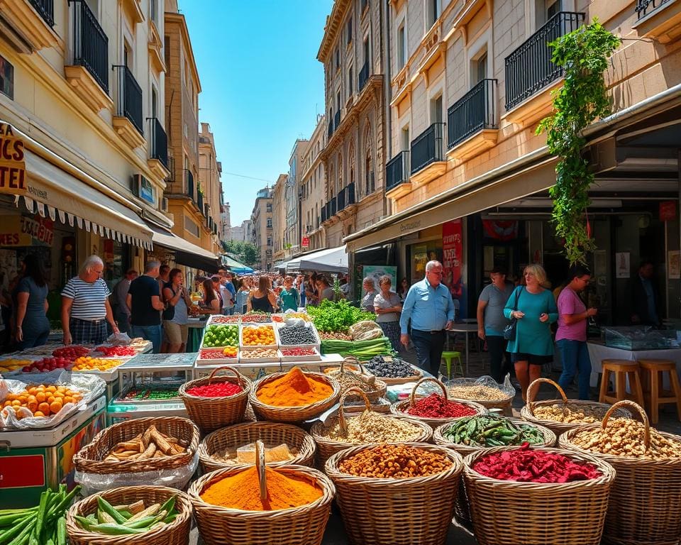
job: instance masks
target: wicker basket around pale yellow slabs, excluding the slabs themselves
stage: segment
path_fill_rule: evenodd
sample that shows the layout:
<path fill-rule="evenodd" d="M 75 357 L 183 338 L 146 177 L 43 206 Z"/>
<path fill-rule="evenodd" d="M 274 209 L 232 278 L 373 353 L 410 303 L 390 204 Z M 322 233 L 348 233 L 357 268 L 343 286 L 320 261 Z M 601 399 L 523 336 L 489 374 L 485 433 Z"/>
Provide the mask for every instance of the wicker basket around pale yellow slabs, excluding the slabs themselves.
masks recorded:
<path fill-rule="evenodd" d="M 245 468 L 250 464 L 227 464 L 217 461 L 211 455 L 224 452 L 228 448 L 248 445 L 260 439 L 267 444 L 286 443 L 297 448 L 298 453 L 285 462 L 270 462 L 270 467 L 278 466 L 314 466 L 316 445 L 309 434 L 297 426 L 276 424 L 274 422 L 248 422 L 218 429 L 204 437 L 199 445 L 199 464 L 202 473 L 210 473 L 223 468 Z"/>

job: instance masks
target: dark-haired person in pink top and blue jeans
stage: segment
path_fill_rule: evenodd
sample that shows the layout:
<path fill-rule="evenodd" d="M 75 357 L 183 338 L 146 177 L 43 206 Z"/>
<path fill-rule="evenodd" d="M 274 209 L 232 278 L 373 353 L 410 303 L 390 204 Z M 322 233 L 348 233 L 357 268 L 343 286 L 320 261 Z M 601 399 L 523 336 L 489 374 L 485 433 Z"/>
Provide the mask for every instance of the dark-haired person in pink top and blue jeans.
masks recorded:
<path fill-rule="evenodd" d="M 558 331 L 555 343 L 560 351 L 563 373 L 558 384 L 565 390 L 578 374 L 580 400 L 589 399 L 589 378 L 591 360 L 587 349 L 587 323 L 589 316 L 595 316 L 597 309 L 587 309 L 577 292 L 589 284 L 591 273 L 582 265 L 570 268 L 570 283 L 558 295 Z"/>

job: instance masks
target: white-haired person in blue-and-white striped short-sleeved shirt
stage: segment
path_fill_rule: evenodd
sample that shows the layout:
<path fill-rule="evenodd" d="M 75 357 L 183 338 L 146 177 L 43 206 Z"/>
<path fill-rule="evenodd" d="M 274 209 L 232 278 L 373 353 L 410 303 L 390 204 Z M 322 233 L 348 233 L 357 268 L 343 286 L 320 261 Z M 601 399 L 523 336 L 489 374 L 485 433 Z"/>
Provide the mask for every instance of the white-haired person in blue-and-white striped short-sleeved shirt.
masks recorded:
<path fill-rule="evenodd" d="M 109 304 L 109 287 L 102 279 L 104 262 L 97 255 L 87 258 L 78 276 L 62 290 L 64 344 L 101 344 L 106 341 L 106 322 L 114 333 L 118 325 Z"/>

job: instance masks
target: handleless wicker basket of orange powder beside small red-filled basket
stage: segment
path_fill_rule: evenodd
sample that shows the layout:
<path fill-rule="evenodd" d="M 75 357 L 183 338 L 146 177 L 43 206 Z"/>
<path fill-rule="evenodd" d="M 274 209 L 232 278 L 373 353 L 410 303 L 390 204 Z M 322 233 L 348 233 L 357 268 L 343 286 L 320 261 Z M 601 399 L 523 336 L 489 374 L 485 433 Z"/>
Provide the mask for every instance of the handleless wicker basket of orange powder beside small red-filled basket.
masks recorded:
<path fill-rule="evenodd" d="M 303 422 L 326 411 L 340 395 L 341 386 L 335 379 L 294 367 L 255 382 L 249 401 L 260 420 Z"/>

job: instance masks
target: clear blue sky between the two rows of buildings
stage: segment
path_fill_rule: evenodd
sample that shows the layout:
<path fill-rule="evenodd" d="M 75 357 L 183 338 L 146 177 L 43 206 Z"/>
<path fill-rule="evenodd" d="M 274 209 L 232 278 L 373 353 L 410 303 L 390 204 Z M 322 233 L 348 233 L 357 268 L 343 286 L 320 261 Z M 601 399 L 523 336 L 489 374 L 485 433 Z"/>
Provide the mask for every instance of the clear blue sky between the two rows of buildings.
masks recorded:
<path fill-rule="evenodd" d="M 332 4 L 179 1 L 201 79 L 199 121 L 215 135 L 233 226 L 250 217 L 258 189 L 288 171 L 296 138 L 309 138 L 324 111 L 316 54 Z"/>

